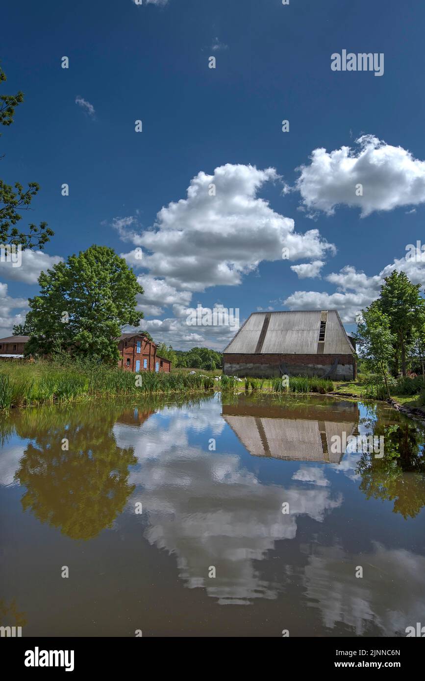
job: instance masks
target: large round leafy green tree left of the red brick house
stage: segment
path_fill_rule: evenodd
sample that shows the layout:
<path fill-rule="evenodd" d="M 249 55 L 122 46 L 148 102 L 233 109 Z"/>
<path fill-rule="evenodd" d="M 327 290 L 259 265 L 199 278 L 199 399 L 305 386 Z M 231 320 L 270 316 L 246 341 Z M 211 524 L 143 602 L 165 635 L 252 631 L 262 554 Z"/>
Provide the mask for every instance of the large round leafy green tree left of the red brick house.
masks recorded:
<path fill-rule="evenodd" d="M 26 354 L 58 350 L 116 364 L 116 338 L 137 326 L 136 294 L 143 289 L 125 259 L 106 246 L 91 246 L 42 272 L 40 295 L 29 300 L 26 323 L 33 336 Z"/>

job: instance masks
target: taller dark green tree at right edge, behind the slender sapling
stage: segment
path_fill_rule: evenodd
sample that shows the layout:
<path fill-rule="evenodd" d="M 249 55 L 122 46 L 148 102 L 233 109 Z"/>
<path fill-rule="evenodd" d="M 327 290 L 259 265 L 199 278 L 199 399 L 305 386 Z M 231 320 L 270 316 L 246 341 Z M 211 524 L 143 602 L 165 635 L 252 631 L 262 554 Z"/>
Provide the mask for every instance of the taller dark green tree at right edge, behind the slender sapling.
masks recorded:
<path fill-rule="evenodd" d="M 407 353 L 418 333 L 418 326 L 424 310 L 424 299 L 420 296 L 420 284 L 412 284 L 405 272 L 394 270 L 385 277 L 381 295 L 376 301 L 377 308 L 390 321 L 390 331 L 395 336 L 394 350 L 400 353 L 403 376 L 407 373 Z"/>

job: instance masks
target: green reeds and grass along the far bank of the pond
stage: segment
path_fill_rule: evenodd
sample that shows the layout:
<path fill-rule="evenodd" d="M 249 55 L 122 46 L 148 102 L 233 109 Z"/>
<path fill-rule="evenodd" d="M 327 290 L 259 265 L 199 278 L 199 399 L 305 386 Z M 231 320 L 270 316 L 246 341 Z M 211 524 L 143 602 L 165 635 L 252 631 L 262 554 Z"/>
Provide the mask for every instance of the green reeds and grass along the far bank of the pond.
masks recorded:
<path fill-rule="evenodd" d="M 372 381 L 373 383 L 373 381 Z M 392 401 L 415 415 L 423 402 L 421 379 L 399 379 L 394 384 Z M 0 411 L 14 407 L 33 407 L 66 402 L 81 402 L 104 397 L 195 396 L 210 391 L 245 394 L 322 394 L 359 400 L 388 401 L 379 390 L 371 390 L 371 377 L 356 381 L 289 377 L 285 387 L 281 378 L 239 378 L 221 375 L 219 370 L 174 369 L 171 373 L 135 374 L 118 367 L 93 364 L 86 360 L 25 360 L 0 363 Z M 403 411 L 404 411 L 403 409 Z"/>

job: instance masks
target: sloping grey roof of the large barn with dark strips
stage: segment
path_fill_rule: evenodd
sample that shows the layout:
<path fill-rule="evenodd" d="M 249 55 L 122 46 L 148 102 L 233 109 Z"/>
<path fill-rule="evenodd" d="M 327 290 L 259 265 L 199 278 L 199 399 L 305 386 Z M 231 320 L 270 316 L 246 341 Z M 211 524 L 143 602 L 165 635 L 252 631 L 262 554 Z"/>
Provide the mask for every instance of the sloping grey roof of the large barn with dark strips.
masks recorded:
<path fill-rule="evenodd" d="M 347 332 L 336 310 L 326 311 L 325 355 L 347 355 L 354 352 Z M 255 354 L 266 315 L 270 321 L 259 354 L 316 355 L 322 312 L 254 312 L 242 324 L 223 353 Z"/>

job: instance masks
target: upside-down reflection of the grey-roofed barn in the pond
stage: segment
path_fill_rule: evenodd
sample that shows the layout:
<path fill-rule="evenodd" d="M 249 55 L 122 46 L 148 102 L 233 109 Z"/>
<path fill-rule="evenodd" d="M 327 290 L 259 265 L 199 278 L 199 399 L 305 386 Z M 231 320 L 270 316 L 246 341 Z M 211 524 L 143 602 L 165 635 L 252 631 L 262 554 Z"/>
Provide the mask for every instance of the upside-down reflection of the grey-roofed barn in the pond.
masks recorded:
<path fill-rule="evenodd" d="M 342 440 L 344 432 L 346 437 L 357 434 L 359 420 L 356 402 L 294 408 L 240 400 L 238 405 L 223 405 L 222 414 L 253 456 L 336 464 L 344 452 L 331 452 L 332 437 Z"/>

